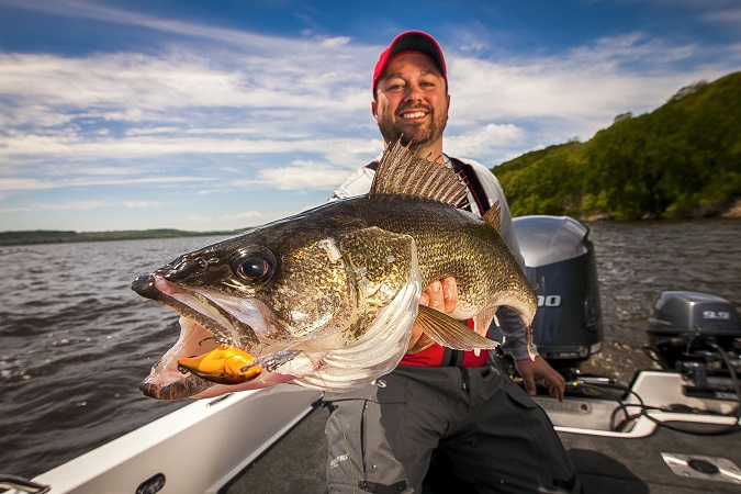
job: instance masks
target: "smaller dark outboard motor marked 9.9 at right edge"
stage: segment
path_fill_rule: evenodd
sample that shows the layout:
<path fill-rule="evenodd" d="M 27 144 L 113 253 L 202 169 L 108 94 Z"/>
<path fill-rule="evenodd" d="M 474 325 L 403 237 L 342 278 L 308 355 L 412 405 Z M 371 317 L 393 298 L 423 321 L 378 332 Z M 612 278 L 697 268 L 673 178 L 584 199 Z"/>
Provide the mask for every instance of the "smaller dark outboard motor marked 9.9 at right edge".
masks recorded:
<path fill-rule="evenodd" d="M 734 390 L 741 371 L 741 325 L 736 307 L 717 295 L 665 291 L 651 306 L 647 329 L 653 358 L 694 383 L 694 394 Z"/>

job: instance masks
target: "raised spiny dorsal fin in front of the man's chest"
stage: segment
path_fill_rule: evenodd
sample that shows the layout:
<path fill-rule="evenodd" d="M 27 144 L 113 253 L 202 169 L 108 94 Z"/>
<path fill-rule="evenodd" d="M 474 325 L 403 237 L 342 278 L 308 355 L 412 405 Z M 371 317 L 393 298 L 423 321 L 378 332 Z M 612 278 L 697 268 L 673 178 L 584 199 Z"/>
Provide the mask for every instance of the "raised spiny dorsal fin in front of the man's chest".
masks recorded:
<path fill-rule="evenodd" d="M 406 195 L 453 207 L 468 204 L 468 191 L 451 165 L 417 157 L 401 139 L 386 146 L 373 177 L 370 195 Z"/>

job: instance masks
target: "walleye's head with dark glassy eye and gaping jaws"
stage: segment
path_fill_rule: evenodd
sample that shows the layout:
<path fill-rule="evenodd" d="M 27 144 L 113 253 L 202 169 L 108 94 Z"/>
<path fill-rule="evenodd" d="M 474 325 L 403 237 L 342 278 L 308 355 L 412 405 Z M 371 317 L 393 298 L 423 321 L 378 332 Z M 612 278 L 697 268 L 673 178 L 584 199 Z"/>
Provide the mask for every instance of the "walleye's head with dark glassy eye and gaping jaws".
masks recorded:
<path fill-rule="evenodd" d="M 141 389 L 161 400 L 209 397 L 316 374 L 337 361 L 338 351 L 357 346 L 400 292 L 405 293 L 400 312 L 416 307 L 416 271 L 407 236 L 374 227 L 316 227 L 304 218 L 184 254 L 132 284 L 181 315 L 180 338 Z M 220 346 L 248 352 L 268 371 L 226 385 L 179 364 Z M 401 359 L 398 351 L 384 371 Z"/>

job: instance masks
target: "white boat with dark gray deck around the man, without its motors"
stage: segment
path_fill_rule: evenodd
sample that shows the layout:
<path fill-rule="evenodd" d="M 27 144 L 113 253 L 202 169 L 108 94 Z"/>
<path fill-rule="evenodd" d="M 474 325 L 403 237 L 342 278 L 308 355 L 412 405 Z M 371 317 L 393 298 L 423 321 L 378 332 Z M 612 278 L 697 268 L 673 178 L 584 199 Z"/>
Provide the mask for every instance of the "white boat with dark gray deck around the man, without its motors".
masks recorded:
<path fill-rule="evenodd" d="M 740 492 L 741 449 L 738 433 L 731 433 L 739 423 L 737 403 L 689 397 L 683 385 L 676 372 L 643 371 L 620 402 L 568 396 L 559 403 L 544 395 L 535 401 L 553 422 L 586 494 Z M 317 411 L 288 434 L 321 397 L 282 384 L 194 402 L 34 482 L 53 494 L 266 494 L 294 492 L 296 484 L 302 493 L 326 493 L 326 414 Z M 686 412 L 672 411 L 677 405 Z M 621 409 L 638 417 L 616 428 Z"/>

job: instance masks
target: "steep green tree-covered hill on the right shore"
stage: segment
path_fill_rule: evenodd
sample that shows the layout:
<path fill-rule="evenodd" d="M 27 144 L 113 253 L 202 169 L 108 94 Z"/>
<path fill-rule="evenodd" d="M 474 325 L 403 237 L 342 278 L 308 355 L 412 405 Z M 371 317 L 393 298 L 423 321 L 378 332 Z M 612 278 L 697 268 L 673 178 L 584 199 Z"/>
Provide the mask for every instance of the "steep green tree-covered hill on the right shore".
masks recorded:
<path fill-rule="evenodd" d="M 513 215 L 618 220 L 717 216 L 741 203 L 741 72 L 680 90 L 586 143 L 493 168 Z"/>

